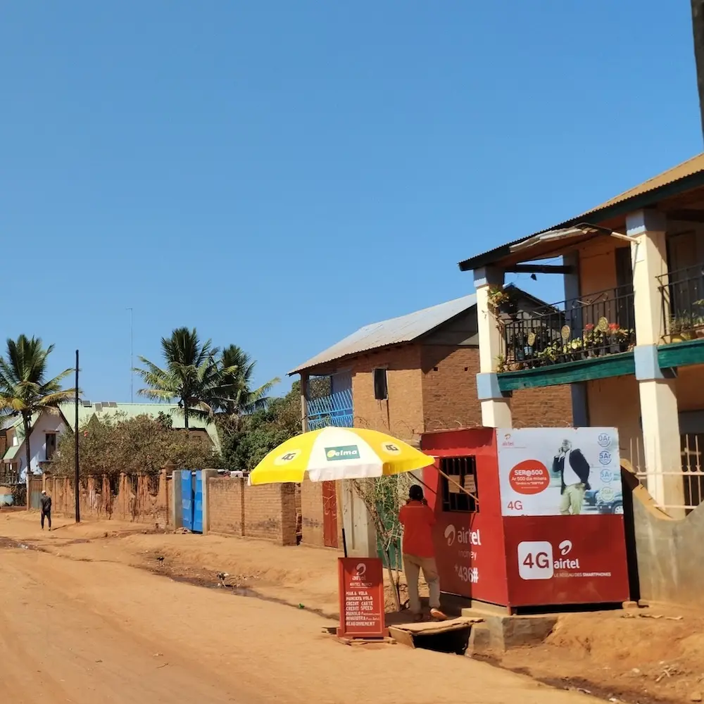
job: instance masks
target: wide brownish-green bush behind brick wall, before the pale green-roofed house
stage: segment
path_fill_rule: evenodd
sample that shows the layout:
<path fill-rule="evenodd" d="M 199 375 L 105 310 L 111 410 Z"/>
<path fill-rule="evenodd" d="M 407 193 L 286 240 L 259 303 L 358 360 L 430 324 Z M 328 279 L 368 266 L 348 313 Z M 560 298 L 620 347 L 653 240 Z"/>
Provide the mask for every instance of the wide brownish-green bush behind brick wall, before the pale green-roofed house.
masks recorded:
<path fill-rule="evenodd" d="M 79 429 L 80 474 L 157 474 L 167 462 L 176 469 L 218 469 L 220 455 L 213 451 L 202 433 L 172 429 L 168 415 L 139 415 L 127 418 L 122 413 L 98 420 L 93 416 Z M 56 474 L 73 475 L 74 435 L 61 434 L 52 470 Z"/>

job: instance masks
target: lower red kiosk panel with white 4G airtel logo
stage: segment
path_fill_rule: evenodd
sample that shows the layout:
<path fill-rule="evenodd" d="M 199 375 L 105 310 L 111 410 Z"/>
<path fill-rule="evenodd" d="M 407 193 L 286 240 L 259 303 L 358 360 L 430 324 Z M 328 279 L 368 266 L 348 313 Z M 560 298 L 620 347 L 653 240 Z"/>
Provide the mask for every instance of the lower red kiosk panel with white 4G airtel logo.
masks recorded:
<path fill-rule="evenodd" d="M 622 515 L 504 519 L 512 606 L 629 599 Z"/>

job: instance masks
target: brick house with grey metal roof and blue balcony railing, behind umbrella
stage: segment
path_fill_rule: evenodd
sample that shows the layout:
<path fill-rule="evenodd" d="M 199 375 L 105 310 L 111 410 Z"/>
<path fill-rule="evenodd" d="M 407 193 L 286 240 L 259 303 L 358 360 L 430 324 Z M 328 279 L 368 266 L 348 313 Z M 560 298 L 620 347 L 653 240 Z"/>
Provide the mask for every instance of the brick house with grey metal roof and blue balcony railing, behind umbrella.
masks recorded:
<path fill-rule="evenodd" d="M 515 289 L 522 315 L 546 304 Z M 306 425 L 368 427 L 406 441 L 482 425 L 475 296 L 367 325 L 296 367 Z M 513 392 L 515 427 L 570 425 L 569 386 Z"/>

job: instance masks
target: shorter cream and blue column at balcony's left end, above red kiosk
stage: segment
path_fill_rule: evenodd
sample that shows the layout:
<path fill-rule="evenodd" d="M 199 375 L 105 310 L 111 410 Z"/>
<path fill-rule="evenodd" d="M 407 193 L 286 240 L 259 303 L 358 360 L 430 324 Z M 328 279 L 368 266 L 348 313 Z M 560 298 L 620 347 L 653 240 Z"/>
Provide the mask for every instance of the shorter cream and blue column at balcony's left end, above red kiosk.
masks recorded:
<path fill-rule="evenodd" d="M 477 289 L 477 332 L 479 334 L 479 374 L 477 397 L 482 406 L 482 425 L 491 428 L 513 427 L 510 396 L 498 388 L 496 362 L 504 354 L 503 336 L 494 310 L 489 306 L 489 289 L 503 286 L 503 272 L 492 268 L 474 271 Z"/>

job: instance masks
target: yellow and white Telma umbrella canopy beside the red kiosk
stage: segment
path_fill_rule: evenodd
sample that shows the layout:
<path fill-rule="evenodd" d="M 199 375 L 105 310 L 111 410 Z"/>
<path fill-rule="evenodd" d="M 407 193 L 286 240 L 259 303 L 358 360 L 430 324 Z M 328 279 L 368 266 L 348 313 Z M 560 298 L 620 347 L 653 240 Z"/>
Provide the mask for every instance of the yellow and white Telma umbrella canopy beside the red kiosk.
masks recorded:
<path fill-rule="evenodd" d="M 365 479 L 433 463 L 432 457 L 376 430 L 328 427 L 296 435 L 272 450 L 252 470 L 249 484 Z"/>

